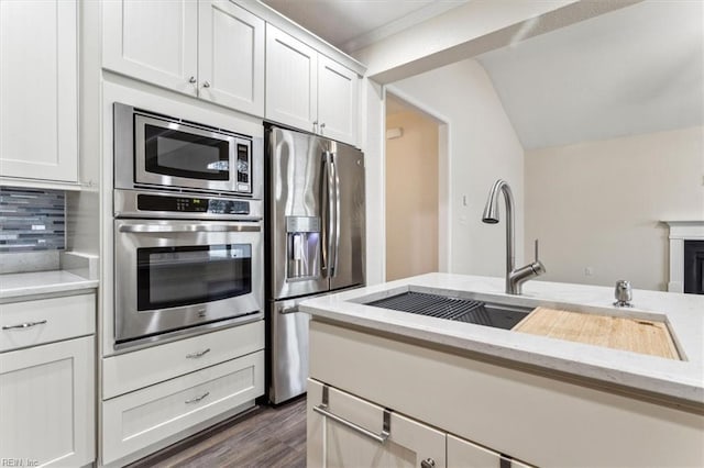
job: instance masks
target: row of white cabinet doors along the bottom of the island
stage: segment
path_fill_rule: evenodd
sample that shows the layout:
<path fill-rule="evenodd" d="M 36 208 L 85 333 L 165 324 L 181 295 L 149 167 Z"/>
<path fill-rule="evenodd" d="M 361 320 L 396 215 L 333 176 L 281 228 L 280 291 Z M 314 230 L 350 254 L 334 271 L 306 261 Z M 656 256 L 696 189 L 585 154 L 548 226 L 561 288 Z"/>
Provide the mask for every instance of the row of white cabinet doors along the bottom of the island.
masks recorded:
<path fill-rule="evenodd" d="M 530 467 L 314 379 L 307 417 L 311 467 Z"/>

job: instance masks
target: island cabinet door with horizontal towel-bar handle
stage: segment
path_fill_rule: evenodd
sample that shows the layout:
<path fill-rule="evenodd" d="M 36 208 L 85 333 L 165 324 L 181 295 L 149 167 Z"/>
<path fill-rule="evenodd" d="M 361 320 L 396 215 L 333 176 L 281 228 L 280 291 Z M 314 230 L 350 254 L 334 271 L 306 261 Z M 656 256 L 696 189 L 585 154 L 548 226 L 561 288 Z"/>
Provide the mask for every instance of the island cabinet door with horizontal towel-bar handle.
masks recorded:
<path fill-rule="evenodd" d="M 429 460 L 446 466 L 446 435 L 408 417 L 391 413 L 389 436 L 380 443 L 359 430 L 314 411 L 323 386 L 308 380 L 308 466 L 419 467 Z M 381 434 L 384 408 L 330 388 L 328 411 L 356 426 Z M 430 461 L 431 460 L 431 461 Z"/>

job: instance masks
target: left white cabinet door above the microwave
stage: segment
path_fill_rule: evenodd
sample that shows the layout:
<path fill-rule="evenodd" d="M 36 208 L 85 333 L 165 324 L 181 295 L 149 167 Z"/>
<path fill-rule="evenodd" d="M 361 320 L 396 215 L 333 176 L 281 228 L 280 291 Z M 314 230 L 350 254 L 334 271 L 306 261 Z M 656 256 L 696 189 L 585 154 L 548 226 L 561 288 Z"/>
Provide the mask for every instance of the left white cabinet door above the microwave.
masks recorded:
<path fill-rule="evenodd" d="M 102 27 L 103 68 L 196 96 L 196 1 L 106 1 Z"/>

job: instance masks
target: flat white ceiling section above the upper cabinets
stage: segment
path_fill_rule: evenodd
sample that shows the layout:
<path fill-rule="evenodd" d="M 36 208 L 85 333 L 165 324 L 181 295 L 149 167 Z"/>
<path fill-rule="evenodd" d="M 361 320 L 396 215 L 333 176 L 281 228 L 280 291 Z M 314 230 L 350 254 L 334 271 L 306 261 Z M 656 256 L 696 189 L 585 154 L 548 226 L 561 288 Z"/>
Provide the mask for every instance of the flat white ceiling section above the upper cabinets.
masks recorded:
<path fill-rule="evenodd" d="M 351 53 L 469 0 L 262 0 L 336 47 Z"/>

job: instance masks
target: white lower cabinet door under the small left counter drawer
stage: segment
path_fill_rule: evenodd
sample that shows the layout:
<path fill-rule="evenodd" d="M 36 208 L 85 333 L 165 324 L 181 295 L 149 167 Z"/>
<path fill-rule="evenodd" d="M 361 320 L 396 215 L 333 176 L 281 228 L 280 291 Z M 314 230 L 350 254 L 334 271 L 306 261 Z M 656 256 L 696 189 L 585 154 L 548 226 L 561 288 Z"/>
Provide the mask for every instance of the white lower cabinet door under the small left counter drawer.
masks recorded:
<path fill-rule="evenodd" d="M 95 353 L 85 337 L 0 354 L 3 459 L 62 467 L 95 460 Z"/>

